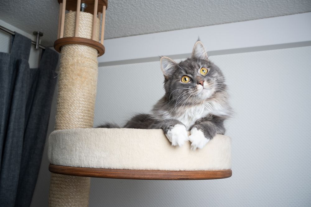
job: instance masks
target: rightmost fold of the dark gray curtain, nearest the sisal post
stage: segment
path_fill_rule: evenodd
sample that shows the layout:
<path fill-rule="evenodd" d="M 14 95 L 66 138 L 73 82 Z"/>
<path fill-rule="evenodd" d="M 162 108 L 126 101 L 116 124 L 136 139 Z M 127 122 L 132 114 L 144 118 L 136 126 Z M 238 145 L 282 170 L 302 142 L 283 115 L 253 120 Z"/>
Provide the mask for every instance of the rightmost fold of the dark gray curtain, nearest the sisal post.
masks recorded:
<path fill-rule="evenodd" d="M 16 206 L 29 206 L 35 190 L 57 81 L 57 63 L 58 53 L 45 49 L 39 64 L 37 87 L 32 91 L 34 97 L 29 106 L 31 110 L 24 134 Z"/>

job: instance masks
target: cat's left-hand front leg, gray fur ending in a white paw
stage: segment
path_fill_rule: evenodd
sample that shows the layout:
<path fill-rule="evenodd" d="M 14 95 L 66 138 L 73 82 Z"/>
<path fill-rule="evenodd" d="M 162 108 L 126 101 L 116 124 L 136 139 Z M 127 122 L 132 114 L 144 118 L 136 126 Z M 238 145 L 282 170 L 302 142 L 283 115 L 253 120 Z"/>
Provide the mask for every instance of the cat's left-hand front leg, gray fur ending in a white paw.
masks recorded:
<path fill-rule="evenodd" d="M 151 125 L 151 128 L 163 129 L 165 136 L 173 146 L 182 146 L 188 141 L 188 132 L 183 123 L 176 119 L 164 119 Z"/>

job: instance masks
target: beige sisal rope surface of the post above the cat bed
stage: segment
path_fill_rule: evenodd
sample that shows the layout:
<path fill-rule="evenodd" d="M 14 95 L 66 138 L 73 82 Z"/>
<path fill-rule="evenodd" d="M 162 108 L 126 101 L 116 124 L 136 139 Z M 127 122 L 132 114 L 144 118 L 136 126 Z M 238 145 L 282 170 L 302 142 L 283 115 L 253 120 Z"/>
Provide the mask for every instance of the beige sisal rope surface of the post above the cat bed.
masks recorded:
<path fill-rule="evenodd" d="M 66 14 L 64 37 L 75 33 L 76 12 Z M 81 12 L 78 37 L 91 38 L 93 15 Z M 99 19 L 97 19 L 99 31 Z M 98 39 L 98 34 L 97 34 Z M 97 84 L 97 50 L 69 44 L 61 50 L 55 130 L 92 128 Z"/>

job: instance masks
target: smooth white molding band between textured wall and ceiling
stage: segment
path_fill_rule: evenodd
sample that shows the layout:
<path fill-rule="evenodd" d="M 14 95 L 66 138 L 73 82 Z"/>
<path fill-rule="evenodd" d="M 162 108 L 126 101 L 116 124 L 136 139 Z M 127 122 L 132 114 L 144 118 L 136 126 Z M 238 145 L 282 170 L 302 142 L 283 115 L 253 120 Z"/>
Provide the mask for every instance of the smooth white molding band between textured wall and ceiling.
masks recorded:
<path fill-rule="evenodd" d="M 254 52 L 311 45 L 311 12 L 260 20 L 143 34 L 104 41 L 99 66 L 189 56 L 199 36 L 208 55 Z"/>

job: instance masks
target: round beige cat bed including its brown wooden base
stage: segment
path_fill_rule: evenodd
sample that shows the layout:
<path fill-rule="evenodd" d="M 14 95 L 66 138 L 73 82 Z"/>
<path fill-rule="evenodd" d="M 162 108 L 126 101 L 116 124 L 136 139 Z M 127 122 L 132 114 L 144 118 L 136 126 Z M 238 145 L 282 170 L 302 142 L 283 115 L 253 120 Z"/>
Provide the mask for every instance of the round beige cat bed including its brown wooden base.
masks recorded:
<path fill-rule="evenodd" d="M 231 176 L 231 139 L 216 135 L 203 149 L 171 146 L 161 129 L 77 128 L 49 137 L 50 171 L 125 179 L 217 179 Z"/>

